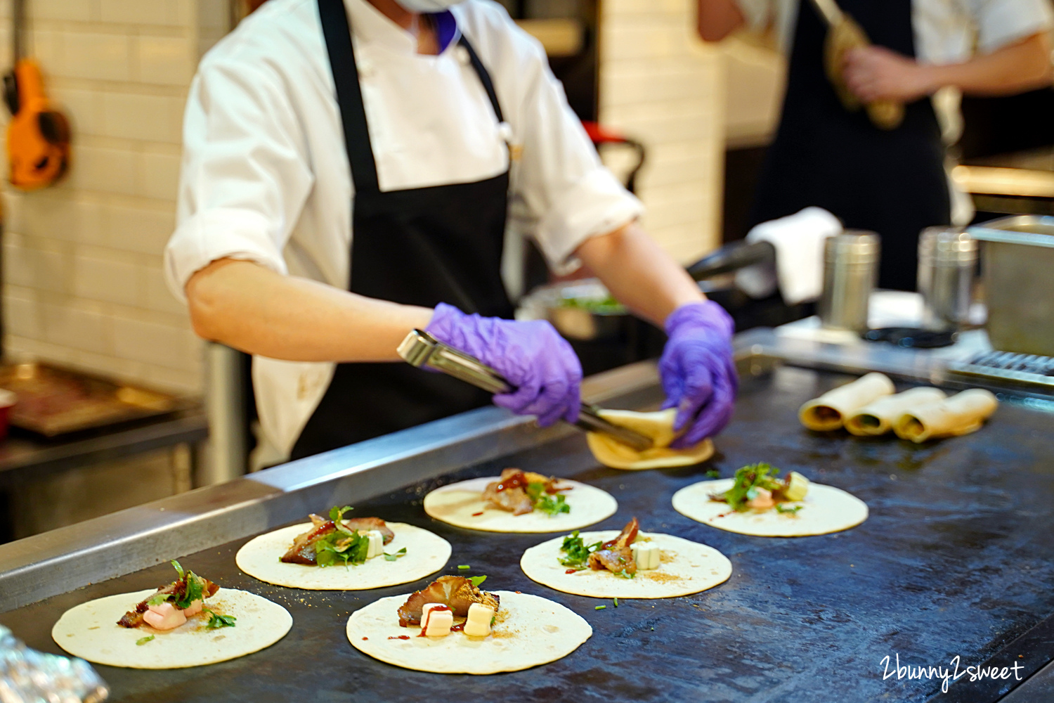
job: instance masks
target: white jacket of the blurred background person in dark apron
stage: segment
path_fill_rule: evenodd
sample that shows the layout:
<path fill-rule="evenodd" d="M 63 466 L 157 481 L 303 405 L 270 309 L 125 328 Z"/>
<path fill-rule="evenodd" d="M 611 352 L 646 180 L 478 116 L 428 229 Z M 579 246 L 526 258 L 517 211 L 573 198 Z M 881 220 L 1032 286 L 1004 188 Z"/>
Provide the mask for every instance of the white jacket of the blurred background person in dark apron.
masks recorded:
<path fill-rule="evenodd" d="M 784 52 L 790 51 L 795 18 L 802 0 L 736 0 L 754 28 L 774 26 Z M 808 2 L 808 0 L 804 0 Z M 812 7 L 807 12 L 815 12 Z M 990 54 L 1054 26 L 1051 0 L 913 0 L 912 28 L 916 59 L 932 65 L 961 63 L 975 53 Z M 962 95 L 945 87 L 933 96 L 933 106 L 945 143 L 962 136 Z M 949 168 L 954 163 L 948 163 Z M 952 221 L 973 219 L 973 202 L 949 178 Z"/>

